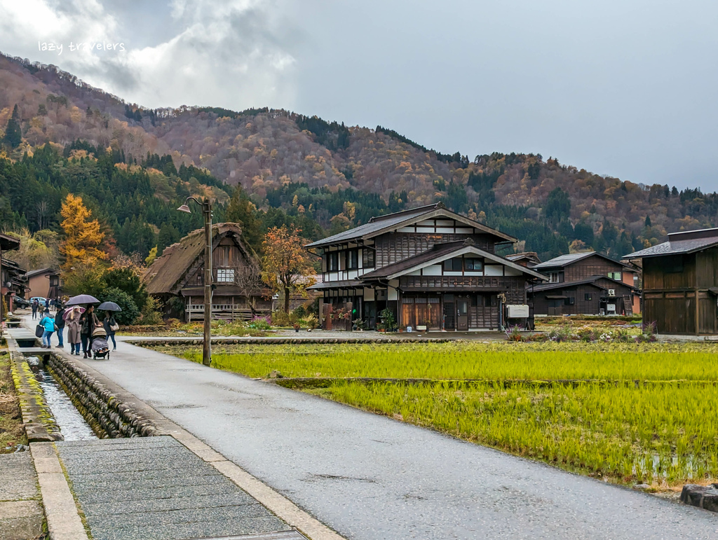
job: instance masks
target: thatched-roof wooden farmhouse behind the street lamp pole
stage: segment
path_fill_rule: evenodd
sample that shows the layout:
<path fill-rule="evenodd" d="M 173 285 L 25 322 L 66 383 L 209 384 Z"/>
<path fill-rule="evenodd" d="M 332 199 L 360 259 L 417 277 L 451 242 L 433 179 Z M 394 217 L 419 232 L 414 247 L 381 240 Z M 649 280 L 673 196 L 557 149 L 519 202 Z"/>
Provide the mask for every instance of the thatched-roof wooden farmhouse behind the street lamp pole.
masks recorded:
<path fill-rule="evenodd" d="M 271 293 L 261 283 L 257 257 L 241 235 L 234 223 L 212 227 L 213 318 L 234 321 L 271 311 Z M 167 316 L 204 320 L 204 239 L 204 229 L 197 229 L 166 247 L 143 276 L 147 292 L 162 300 Z"/>

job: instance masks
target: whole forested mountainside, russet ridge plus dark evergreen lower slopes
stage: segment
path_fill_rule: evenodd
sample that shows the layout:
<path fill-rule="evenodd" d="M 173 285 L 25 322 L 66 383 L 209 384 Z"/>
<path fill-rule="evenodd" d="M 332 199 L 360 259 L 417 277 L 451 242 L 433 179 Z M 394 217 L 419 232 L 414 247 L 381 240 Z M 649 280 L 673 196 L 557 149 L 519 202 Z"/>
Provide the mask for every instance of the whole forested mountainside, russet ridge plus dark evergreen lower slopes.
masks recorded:
<path fill-rule="evenodd" d="M 73 192 L 119 250 L 143 256 L 201 224 L 174 212 L 187 194 L 215 197 L 215 220 L 245 222 L 255 246 L 272 224 L 313 239 L 437 200 L 543 258 L 588 247 L 620 257 L 718 222 L 718 195 L 698 189 L 633 184 L 540 155 L 442 154 L 390 128 L 286 110 L 149 110 L 4 56 L 0 138 L 0 227 L 57 229 Z"/>

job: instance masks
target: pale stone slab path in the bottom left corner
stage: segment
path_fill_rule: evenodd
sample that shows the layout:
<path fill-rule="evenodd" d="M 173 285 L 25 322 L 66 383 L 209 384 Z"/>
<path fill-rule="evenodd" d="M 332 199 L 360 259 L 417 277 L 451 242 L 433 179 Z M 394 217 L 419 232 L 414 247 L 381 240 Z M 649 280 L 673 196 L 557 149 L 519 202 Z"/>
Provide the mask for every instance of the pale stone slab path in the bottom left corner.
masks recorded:
<path fill-rule="evenodd" d="M 0 455 L 0 539 L 34 539 L 42 532 L 42 505 L 29 452 Z"/>

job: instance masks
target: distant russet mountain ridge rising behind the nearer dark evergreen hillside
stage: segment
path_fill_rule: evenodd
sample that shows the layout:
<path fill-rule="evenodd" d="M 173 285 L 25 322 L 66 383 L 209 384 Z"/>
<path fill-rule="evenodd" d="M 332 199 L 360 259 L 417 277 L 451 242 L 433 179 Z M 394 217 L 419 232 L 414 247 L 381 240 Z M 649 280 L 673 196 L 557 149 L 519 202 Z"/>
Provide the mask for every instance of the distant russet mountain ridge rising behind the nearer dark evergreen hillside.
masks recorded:
<path fill-rule="evenodd" d="M 281 109 L 142 108 L 55 66 L 1 55 L 0 129 L 14 105 L 22 144 L 11 158 L 78 139 L 121 151 L 129 161 L 169 155 L 175 167 L 207 169 L 241 186 L 259 209 L 301 210 L 328 230 L 365 222 L 370 211 L 441 200 L 518 237 L 518 250 L 546 257 L 592 247 L 620 257 L 668 232 L 717 223 L 718 196 L 700 189 L 621 181 L 540 154 L 470 160 L 381 125 L 345 126 Z M 342 207 L 320 204 L 339 193 Z M 383 203 L 362 199 L 368 195 Z"/>

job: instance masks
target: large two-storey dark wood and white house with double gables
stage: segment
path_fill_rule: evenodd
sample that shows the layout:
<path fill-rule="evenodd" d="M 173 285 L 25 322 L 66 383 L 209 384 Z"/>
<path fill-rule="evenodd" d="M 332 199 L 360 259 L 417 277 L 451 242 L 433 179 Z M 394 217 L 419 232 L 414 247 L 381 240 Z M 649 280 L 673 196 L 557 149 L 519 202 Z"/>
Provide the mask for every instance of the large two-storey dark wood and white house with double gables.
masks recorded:
<path fill-rule="evenodd" d="M 307 249 L 322 257 L 322 280 L 312 286 L 321 293 L 322 323 L 347 329 L 361 319 L 376 328 L 388 308 L 398 328 L 501 328 L 508 316 L 528 315 L 526 283 L 546 280 L 496 255 L 513 242 L 442 204 L 373 217 L 312 242 Z"/>

